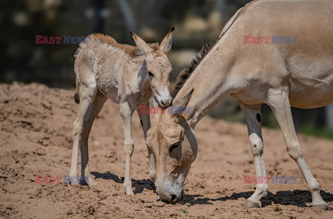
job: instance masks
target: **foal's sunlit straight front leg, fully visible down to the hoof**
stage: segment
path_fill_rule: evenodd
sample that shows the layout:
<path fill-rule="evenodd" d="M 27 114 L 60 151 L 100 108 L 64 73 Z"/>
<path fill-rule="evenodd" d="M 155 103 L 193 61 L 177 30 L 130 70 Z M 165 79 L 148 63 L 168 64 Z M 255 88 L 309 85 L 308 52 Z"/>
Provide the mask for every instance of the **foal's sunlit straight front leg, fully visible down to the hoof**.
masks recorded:
<path fill-rule="evenodd" d="M 120 113 L 123 119 L 123 134 L 125 137 L 125 142 L 123 143 L 123 152 L 125 154 L 125 180 L 123 181 L 123 191 L 127 195 L 134 196 L 132 181 L 130 180 L 130 158 L 134 150 L 134 142 L 132 139 L 133 107 L 131 107 L 127 101 L 121 102 Z"/>

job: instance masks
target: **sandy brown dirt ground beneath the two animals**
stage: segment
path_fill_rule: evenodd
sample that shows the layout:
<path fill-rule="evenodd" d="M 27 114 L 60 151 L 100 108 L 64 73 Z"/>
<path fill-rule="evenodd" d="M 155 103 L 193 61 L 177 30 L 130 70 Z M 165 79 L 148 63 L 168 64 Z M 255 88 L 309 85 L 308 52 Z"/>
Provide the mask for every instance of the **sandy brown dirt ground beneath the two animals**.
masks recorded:
<path fill-rule="evenodd" d="M 303 157 L 329 205 L 329 211 L 319 211 L 311 208 L 311 195 L 287 155 L 280 130 L 263 129 L 267 175 L 297 177 L 297 183 L 270 184 L 262 209 L 245 210 L 241 204 L 255 189 L 255 184 L 244 184 L 244 175 L 255 176 L 246 126 L 208 117 L 195 130 L 198 157 L 185 182 L 185 197 L 171 205 L 160 202 L 153 192 L 135 114 L 131 170 L 135 198 L 124 195 L 123 130 L 119 107 L 111 101 L 89 137 L 90 170 L 98 184 L 92 188 L 64 184 L 78 109 L 73 94 L 37 84 L 0 85 L 1 218 L 333 218 L 333 141 L 299 135 Z M 61 183 L 37 184 L 37 175 L 49 180 L 61 177 Z"/>

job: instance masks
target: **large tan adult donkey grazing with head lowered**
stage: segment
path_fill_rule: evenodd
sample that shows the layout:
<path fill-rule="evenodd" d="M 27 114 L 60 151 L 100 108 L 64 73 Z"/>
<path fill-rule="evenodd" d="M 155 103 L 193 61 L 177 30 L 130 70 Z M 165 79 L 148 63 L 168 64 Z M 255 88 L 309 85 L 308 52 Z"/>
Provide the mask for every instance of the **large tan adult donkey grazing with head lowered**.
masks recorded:
<path fill-rule="evenodd" d="M 257 177 L 266 177 L 260 123 L 260 106 L 266 103 L 278 120 L 289 156 L 305 177 L 313 206 L 327 209 L 318 182 L 302 157 L 290 108 L 333 102 L 332 11 L 331 0 L 248 3 L 228 21 L 219 40 L 203 48 L 201 58 L 180 73 L 176 83 L 180 90 L 173 105 L 189 106 L 192 112 L 157 115 L 146 139 L 155 156 L 151 159 L 156 161 L 162 200 L 174 203 L 182 198 L 185 178 L 197 154 L 192 129 L 219 100 L 230 95 L 244 112 Z M 244 44 L 248 35 L 257 41 L 259 36 L 296 36 L 297 43 Z M 267 193 L 268 184 L 257 184 L 244 208 L 261 207 L 260 199 Z"/>

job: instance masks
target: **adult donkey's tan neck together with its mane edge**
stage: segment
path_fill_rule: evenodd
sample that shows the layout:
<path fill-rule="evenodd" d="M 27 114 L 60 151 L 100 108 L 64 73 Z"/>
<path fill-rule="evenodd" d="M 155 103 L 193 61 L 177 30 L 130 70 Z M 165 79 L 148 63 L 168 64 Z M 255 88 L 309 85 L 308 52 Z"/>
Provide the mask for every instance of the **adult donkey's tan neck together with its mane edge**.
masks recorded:
<path fill-rule="evenodd" d="M 234 67 L 237 55 L 240 55 L 238 49 L 239 44 L 243 42 L 243 36 L 234 26 L 237 21 L 240 24 L 239 27 L 246 25 L 246 22 L 240 21 L 239 17 L 252 3 L 253 1 L 239 9 L 225 24 L 219 40 L 207 54 L 203 54 L 203 59 L 199 60 L 197 66 L 194 66 L 194 70 L 192 69 L 192 72 L 189 73 L 190 76 L 185 76 L 185 79 L 182 79 L 181 73 L 178 76 L 180 83 L 176 87 L 181 87 L 181 89 L 178 91 L 174 103 L 178 98 L 182 98 L 194 89 L 187 104 L 187 107 L 193 107 L 193 111 L 188 114 L 188 110 L 186 110 L 183 114 L 191 128 L 194 128 L 196 123 L 210 112 L 216 103 L 219 103 L 225 96 L 239 91 L 242 87 L 240 79 L 233 76 L 237 68 L 232 67 Z M 184 80 L 185 82 L 183 82 Z"/>

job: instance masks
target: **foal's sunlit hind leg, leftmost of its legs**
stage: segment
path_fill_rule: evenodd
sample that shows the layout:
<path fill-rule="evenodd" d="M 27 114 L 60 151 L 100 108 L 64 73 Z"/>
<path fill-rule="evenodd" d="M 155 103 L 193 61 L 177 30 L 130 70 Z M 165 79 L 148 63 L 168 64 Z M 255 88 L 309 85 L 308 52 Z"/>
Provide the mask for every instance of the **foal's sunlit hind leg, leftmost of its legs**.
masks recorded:
<path fill-rule="evenodd" d="M 69 172 L 71 184 L 78 183 L 76 180 L 76 177 L 78 177 L 78 146 L 83 134 L 85 117 L 94 101 L 96 91 L 97 87 L 94 81 L 80 85 L 80 105 L 78 105 L 78 114 L 76 115 L 73 128 L 73 154 L 71 157 L 71 171 Z"/>

